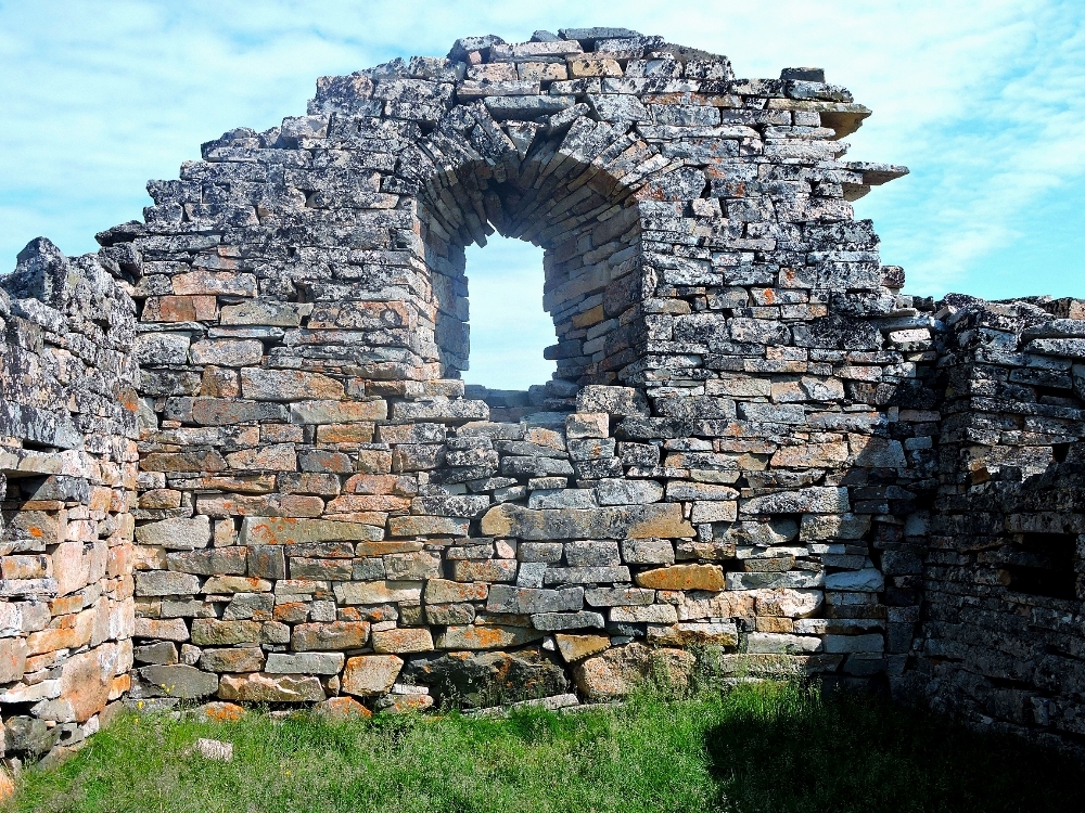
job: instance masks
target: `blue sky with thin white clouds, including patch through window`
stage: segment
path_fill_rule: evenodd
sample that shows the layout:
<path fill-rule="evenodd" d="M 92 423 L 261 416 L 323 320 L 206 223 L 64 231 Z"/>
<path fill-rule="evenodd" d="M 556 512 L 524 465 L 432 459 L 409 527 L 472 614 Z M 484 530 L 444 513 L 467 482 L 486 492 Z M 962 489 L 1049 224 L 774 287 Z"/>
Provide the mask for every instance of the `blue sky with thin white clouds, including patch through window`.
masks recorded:
<path fill-rule="evenodd" d="M 875 111 L 850 157 L 911 168 L 856 204 L 906 293 L 1085 297 L 1082 0 L 0 0 L 0 271 L 39 234 L 94 250 L 95 231 L 140 216 L 149 178 L 175 178 L 227 129 L 304 112 L 318 76 L 582 25 L 726 53 L 740 76 L 817 65 L 848 87 Z M 535 249 L 493 245 L 470 263 L 469 379 L 547 377 L 552 330 L 540 309 L 512 319 L 507 298 L 540 296 Z M 487 358 L 520 358 L 521 374 L 496 382 Z"/>

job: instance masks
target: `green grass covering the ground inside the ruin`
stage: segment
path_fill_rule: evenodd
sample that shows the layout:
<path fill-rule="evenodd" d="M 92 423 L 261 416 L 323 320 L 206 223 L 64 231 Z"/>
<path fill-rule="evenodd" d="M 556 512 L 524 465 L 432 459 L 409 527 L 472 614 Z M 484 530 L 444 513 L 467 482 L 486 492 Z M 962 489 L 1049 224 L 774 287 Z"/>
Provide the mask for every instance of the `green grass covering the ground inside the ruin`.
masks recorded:
<path fill-rule="evenodd" d="M 192 752 L 234 745 L 230 763 Z M 1082 811 L 1085 770 L 867 695 L 744 685 L 501 719 L 120 718 L 12 811 Z"/>

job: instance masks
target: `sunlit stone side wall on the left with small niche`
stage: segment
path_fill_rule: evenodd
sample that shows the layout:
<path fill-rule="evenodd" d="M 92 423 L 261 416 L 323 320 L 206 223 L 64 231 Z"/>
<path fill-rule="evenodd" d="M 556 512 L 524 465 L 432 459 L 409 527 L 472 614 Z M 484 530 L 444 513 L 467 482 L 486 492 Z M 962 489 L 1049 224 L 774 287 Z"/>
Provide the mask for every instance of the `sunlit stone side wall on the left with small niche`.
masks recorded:
<path fill-rule="evenodd" d="M 111 257 L 69 260 L 39 238 L 0 278 L 9 760 L 78 744 L 130 684 L 138 370 L 120 273 Z"/>

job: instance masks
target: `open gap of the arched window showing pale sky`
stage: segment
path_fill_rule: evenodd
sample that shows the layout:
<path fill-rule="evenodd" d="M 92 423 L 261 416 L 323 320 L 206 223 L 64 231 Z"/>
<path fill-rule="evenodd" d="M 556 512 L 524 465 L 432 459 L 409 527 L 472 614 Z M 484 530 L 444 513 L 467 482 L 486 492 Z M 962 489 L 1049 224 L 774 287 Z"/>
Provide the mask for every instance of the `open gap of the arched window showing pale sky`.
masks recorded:
<path fill-rule="evenodd" d="M 467 275 L 471 366 L 463 380 L 515 390 L 550 380 L 557 366 L 542 350 L 557 338 L 542 310 L 542 249 L 494 234 L 485 247 L 468 246 Z"/>

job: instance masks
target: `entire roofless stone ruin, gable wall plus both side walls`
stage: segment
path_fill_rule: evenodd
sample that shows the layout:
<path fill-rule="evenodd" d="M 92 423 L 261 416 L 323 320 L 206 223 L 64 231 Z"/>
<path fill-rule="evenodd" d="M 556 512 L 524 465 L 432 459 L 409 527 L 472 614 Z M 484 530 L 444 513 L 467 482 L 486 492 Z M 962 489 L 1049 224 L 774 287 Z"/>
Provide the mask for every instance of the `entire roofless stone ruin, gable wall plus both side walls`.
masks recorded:
<path fill-rule="evenodd" d="M 98 255 L 31 243 L 9 753 L 123 695 L 553 707 L 706 651 L 1075 741 L 1085 311 L 902 295 L 869 114 L 626 29 L 471 37 L 204 144 Z M 460 378 L 495 231 L 545 250 L 526 392 Z"/>

